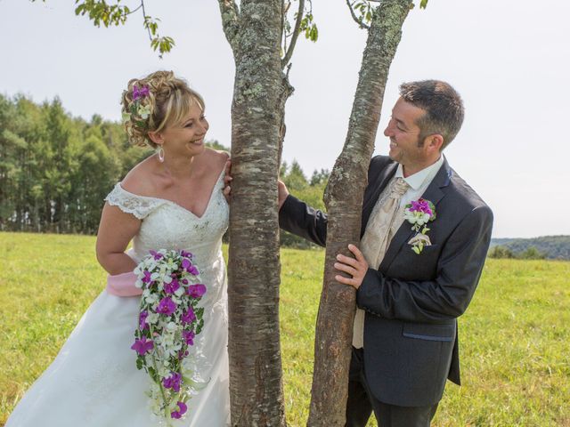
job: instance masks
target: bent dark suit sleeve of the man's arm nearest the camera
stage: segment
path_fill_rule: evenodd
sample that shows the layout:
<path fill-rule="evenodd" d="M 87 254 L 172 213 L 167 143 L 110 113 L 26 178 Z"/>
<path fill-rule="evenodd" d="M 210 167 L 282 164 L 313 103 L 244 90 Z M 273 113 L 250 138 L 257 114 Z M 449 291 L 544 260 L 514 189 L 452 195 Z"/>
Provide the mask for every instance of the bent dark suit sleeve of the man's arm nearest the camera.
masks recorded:
<path fill-rule="evenodd" d="M 445 242 L 434 280 L 388 278 L 369 269 L 356 293 L 356 303 L 382 318 L 427 323 L 458 318 L 475 293 L 492 227 L 491 209 L 486 205 L 476 207 Z"/>

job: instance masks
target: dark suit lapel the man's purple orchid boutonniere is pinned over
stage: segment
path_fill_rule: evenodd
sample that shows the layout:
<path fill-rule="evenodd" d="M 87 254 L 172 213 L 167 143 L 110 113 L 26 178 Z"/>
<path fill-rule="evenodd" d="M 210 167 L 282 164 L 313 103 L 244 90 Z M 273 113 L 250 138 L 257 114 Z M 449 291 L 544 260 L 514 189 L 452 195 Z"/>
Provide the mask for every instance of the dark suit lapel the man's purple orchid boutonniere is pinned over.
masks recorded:
<path fill-rule="evenodd" d="M 444 164 L 437 172 L 436 177 L 431 181 L 428 189 L 424 191 L 421 198 L 429 200 L 437 206 L 439 201 L 445 196 L 444 188 L 449 185 L 452 177 L 452 169 L 449 167 L 447 160 L 444 159 Z M 437 209 L 436 209 L 437 212 Z M 379 270 L 387 271 L 390 264 L 394 261 L 395 255 L 398 254 L 400 248 L 407 244 L 413 237 L 415 231 L 411 230 L 410 222 L 404 221 L 400 228 L 396 231 L 394 238 L 387 248 L 386 254 L 380 262 Z"/>

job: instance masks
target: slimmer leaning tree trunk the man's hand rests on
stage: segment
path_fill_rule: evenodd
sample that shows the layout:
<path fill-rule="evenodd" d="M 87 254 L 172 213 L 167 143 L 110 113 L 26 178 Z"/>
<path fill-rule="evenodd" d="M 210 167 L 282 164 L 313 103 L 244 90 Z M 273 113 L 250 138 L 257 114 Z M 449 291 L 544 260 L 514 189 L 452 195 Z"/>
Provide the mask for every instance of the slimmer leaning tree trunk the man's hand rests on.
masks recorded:
<path fill-rule="evenodd" d="M 360 242 L 362 197 L 374 150 L 388 69 L 402 35 L 410 0 L 385 0 L 374 12 L 362 58 L 345 146 L 325 191 L 329 214 L 327 249 L 314 342 L 314 376 L 309 426 L 341 426 L 346 421 L 355 292 L 335 281 L 338 253 Z"/>

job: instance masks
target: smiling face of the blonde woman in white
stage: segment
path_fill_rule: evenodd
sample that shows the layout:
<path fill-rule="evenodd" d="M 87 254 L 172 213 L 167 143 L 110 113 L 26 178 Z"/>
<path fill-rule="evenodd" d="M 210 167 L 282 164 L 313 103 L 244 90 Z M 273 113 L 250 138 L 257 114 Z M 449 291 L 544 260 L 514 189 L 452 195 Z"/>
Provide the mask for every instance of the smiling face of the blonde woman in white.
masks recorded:
<path fill-rule="evenodd" d="M 204 111 L 198 102 L 194 102 L 182 122 L 167 127 L 161 133 L 165 154 L 195 156 L 201 153 L 204 150 L 204 137 L 208 127 Z"/>

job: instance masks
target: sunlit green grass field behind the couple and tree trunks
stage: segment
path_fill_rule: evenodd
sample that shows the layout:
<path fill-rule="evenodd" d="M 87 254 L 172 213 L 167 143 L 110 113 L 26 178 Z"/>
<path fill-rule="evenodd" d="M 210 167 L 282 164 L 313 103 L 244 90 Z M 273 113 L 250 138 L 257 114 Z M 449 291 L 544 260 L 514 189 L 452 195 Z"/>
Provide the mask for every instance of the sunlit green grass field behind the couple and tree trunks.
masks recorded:
<path fill-rule="evenodd" d="M 322 251 L 284 249 L 281 342 L 288 423 L 305 425 Z M 0 425 L 49 365 L 105 273 L 94 238 L 0 233 Z M 460 318 L 463 386 L 436 426 L 570 426 L 570 262 L 488 260 Z M 376 425 L 371 422 L 370 425 Z"/>

